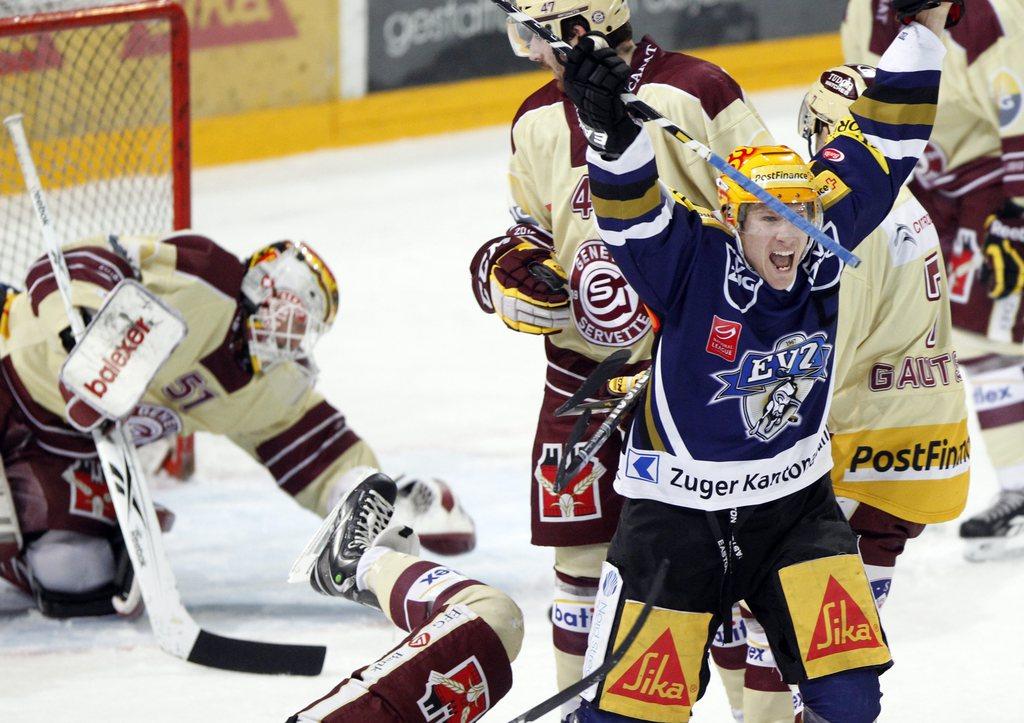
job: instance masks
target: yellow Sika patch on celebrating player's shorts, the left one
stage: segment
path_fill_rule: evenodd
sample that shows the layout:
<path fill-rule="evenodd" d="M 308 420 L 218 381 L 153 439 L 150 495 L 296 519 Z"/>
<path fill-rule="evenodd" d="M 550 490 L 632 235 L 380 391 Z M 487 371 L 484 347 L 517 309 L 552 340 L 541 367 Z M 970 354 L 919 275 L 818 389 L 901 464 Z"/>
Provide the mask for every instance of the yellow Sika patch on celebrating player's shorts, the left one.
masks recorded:
<path fill-rule="evenodd" d="M 613 648 L 642 608 L 626 601 Z M 706 612 L 652 609 L 630 651 L 608 674 L 598 707 L 647 721 L 687 720 L 699 692 L 710 622 Z"/>

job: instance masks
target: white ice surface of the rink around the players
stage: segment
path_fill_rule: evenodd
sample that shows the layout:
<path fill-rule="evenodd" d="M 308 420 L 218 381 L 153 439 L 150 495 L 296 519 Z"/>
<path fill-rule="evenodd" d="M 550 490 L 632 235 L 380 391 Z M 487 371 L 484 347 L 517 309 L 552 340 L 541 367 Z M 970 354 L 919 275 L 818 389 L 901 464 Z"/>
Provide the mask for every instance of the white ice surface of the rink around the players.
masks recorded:
<path fill-rule="evenodd" d="M 799 100 L 796 90 L 754 96 L 777 137 L 803 152 Z M 526 620 L 493 721 L 547 696 L 554 679 L 552 560 L 528 544 L 542 342 L 481 313 L 469 287 L 473 251 L 508 225 L 507 154 L 508 130 L 492 128 L 203 170 L 195 189 L 197 228 L 240 256 L 283 238 L 326 256 L 341 313 L 317 349 L 323 390 L 387 471 L 447 479 L 476 518 L 477 549 L 449 562 L 509 592 Z M 969 512 L 995 491 L 977 434 L 974 452 Z M 194 481 L 161 484 L 157 498 L 177 514 L 166 542 L 200 624 L 325 643 L 324 674 L 200 668 L 161 652 L 144 620 L 46 620 L 0 582 L 0 722 L 280 722 L 400 639 L 380 613 L 285 583 L 316 519 L 227 441 L 201 436 Z M 965 562 L 955 523 L 912 541 L 883 611 L 896 666 L 883 677 L 882 720 L 1024 721 L 1022 599 L 1024 559 Z M 731 720 L 714 676 L 694 720 Z"/>

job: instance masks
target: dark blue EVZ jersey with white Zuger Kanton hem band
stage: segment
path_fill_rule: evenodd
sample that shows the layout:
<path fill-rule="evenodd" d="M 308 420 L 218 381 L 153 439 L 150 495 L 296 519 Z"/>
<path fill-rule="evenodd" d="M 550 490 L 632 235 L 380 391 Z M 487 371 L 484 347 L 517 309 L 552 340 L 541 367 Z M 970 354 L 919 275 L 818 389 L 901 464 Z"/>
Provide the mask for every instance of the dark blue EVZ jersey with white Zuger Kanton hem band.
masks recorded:
<path fill-rule="evenodd" d="M 847 249 L 886 217 L 925 150 L 943 53 L 924 26 L 904 29 L 812 160 L 824 230 Z M 658 183 L 646 133 L 618 159 L 587 160 L 601 238 L 660 321 L 615 488 L 718 510 L 826 474 L 842 262 L 811 243 L 793 287 L 773 289 L 729 227 Z"/>

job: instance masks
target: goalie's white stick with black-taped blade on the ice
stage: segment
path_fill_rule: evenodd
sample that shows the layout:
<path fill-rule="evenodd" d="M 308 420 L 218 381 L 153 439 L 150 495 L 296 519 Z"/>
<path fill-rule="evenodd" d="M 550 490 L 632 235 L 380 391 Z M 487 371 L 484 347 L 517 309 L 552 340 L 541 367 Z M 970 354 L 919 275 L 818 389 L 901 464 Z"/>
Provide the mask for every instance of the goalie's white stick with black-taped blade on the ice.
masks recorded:
<path fill-rule="evenodd" d="M 4 119 L 32 206 L 53 269 L 60 298 L 76 341 L 85 332 L 82 316 L 72 303 L 71 277 L 60 242 L 43 196 L 22 116 Z M 138 580 L 146 614 L 160 647 L 202 666 L 244 673 L 318 675 L 327 648 L 319 645 L 282 645 L 225 638 L 203 630 L 181 604 L 174 572 L 164 551 L 160 523 L 150 497 L 142 465 L 122 423 L 110 432 L 94 430 L 93 441 L 106 479 L 118 524 Z"/>

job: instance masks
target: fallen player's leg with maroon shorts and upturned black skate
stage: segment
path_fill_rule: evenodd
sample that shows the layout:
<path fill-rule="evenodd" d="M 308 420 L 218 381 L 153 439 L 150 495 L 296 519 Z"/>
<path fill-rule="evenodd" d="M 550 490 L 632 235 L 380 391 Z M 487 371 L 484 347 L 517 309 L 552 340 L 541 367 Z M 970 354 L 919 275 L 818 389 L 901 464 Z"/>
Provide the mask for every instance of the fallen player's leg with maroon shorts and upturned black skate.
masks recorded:
<path fill-rule="evenodd" d="M 499 590 L 417 557 L 415 534 L 388 527 L 395 494 L 387 476 L 362 470 L 325 519 L 309 582 L 382 609 L 409 636 L 290 722 L 470 723 L 512 686 L 522 612 Z"/>

